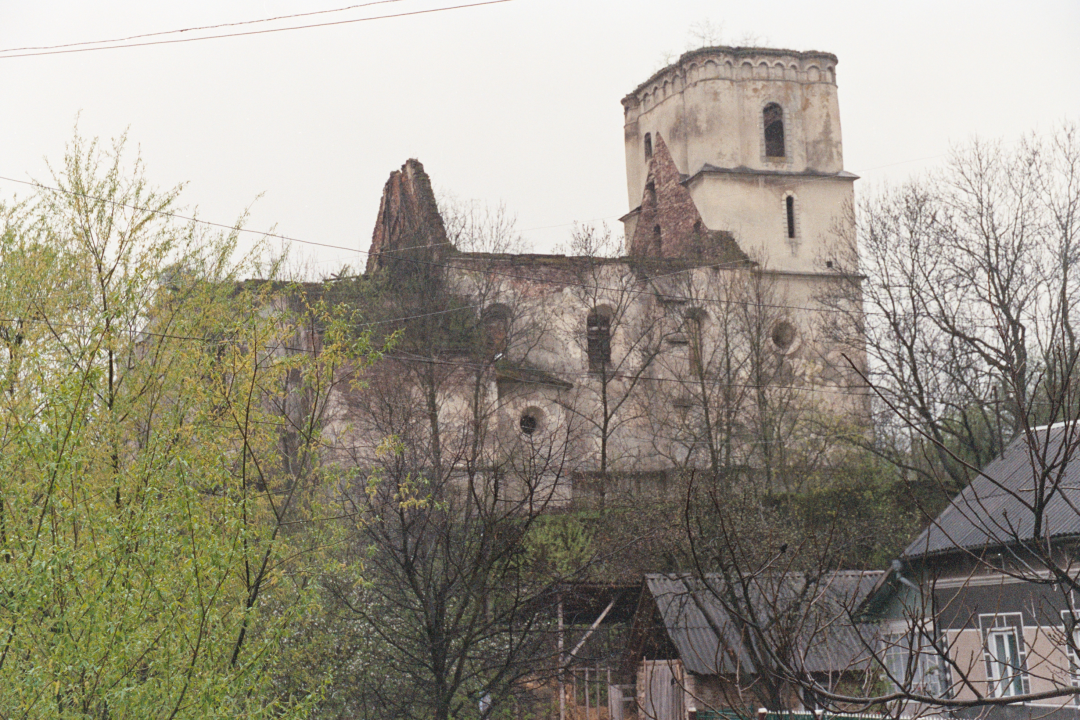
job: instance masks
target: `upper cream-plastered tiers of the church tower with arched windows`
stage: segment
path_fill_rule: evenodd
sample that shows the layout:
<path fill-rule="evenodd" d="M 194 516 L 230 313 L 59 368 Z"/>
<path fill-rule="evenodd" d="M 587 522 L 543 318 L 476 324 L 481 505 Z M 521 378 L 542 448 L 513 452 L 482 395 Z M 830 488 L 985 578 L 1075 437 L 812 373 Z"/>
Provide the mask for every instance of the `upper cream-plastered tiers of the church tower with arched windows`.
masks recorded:
<path fill-rule="evenodd" d="M 626 95 L 627 253 L 725 258 L 733 241 L 770 269 L 819 271 L 856 179 L 843 169 L 836 64 L 704 47 Z"/>

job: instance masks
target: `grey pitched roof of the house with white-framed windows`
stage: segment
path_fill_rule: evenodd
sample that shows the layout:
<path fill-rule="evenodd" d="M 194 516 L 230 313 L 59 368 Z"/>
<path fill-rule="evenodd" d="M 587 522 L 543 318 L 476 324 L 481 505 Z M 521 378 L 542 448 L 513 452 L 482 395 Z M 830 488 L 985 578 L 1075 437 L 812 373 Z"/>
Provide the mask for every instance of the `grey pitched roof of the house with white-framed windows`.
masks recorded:
<path fill-rule="evenodd" d="M 1080 534 L 1080 426 L 1059 423 L 1010 443 L 904 551 L 904 557 L 1010 545 L 1035 535 L 1036 505 L 1043 536 Z M 1034 450 L 1032 450 L 1034 448 Z"/>

